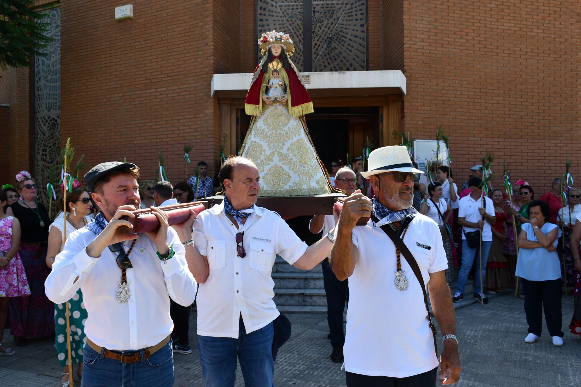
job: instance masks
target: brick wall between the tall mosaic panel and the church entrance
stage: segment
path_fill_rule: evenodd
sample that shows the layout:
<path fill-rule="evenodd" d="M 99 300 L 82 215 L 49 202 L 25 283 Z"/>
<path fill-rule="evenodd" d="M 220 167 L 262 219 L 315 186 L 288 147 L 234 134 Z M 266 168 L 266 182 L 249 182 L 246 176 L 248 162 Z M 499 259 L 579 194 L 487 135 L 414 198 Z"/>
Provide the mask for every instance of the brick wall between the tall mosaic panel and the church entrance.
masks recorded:
<path fill-rule="evenodd" d="M 62 143 L 71 137 L 89 166 L 127 157 L 143 178 L 156 177 L 162 150 L 172 182 L 184 180 L 182 147 L 192 144 L 192 163 L 205 160 L 213 176 L 221 3 L 134 1 L 134 18 L 116 22 L 117 1 L 63 2 Z"/>

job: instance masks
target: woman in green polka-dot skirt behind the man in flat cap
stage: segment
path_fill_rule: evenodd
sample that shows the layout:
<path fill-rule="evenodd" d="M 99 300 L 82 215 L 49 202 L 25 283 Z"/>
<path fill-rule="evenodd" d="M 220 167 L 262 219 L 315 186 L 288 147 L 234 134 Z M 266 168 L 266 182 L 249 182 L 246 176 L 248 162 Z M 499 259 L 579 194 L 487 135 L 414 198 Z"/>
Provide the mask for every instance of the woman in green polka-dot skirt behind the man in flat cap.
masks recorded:
<path fill-rule="evenodd" d="M 78 184 L 78 183 L 77 183 Z M 61 188 L 62 185 L 61 185 Z M 89 193 L 83 187 L 77 186 L 67 193 L 67 212 L 61 212 L 51 224 L 50 232 L 48 234 L 48 252 L 46 253 L 46 266 L 52 268 L 55 263 L 55 257 L 63 250 L 64 247 L 64 223 L 66 222 L 66 235 L 69 238 L 71 232 L 77 231 L 79 228 L 85 227 L 91 219 L 88 217 L 91 212 L 91 200 Z M 59 200 L 59 208 L 63 207 L 63 198 Z M 85 310 L 83 303 L 83 293 L 81 289 L 73 295 L 69 300 L 70 311 L 70 326 L 71 329 L 71 357 L 73 363 L 78 363 L 77 376 L 81 378 L 81 371 L 83 370 L 83 345 L 85 339 L 85 324 L 87 319 L 87 310 Z M 58 354 L 60 367 L 63 367 L 61 376 L 61 384 L 66 387 L 69 385 L 69 370 L 67 366 L 67 329 L 66 315 L 64 314 L 64 304 L 54 304 L 55 306 L 55 346 Z"/>

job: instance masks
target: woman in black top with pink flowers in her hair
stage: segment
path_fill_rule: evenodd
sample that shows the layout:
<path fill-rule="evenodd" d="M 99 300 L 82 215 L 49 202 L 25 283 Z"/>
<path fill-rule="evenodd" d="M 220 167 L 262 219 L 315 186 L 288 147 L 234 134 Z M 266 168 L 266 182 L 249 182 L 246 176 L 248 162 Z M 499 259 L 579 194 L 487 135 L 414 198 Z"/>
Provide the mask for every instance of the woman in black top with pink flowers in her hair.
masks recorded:
<path fill-rule="evenodd" d="M 46 298 L 44 281 L 48 276 L 46 240 L 51 219 L 42 203 L 37 203 L 37 184 L 27 171 L 16 175 L 20 197 L 10 208 L 20 221 L 19 255 L 26 272 L 30 296 L 15 297 L 10 302 L 10 333 L 15 345 L 27 345 L 26 337 L 38 338 L 55 334 L 54 306 Z"/>

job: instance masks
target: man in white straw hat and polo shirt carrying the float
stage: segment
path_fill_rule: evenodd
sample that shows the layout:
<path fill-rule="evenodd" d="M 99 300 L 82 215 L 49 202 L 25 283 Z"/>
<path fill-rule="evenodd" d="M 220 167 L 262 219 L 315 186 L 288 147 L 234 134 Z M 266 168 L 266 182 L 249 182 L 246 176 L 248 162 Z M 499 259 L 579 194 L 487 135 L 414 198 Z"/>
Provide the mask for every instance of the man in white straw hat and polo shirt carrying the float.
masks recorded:
<path fill-rule="evenodd" d="M 460 377 L 442 235 L 435 221 L 411 207 L 421 172 L 405 146 L 375 149 L 362 173 L 375 197 L 356 191 L 343 205 L 331 267 L 339 280 L 349 278 L 347 386 L 435 386 L 436 336 L 426 287 L 443 335 L 440 380 L 448 385 Z M 356 227 L 361 217 L 371 218 Z"/>

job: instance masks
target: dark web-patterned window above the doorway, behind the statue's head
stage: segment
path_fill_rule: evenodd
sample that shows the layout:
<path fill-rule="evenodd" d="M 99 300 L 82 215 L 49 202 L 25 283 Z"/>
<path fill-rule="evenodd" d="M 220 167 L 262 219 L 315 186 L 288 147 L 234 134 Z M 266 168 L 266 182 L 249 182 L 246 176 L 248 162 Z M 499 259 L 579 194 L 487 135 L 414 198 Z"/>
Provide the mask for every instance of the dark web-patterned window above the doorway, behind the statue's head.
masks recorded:
<path fill-rule="evenodd" d="M 312 2 L 313 71 L 367 70 L 365 0 Z M 259 31 L 289 33 L 295 62 L 303 71 L 303 2 L 259 0 Z"/>

